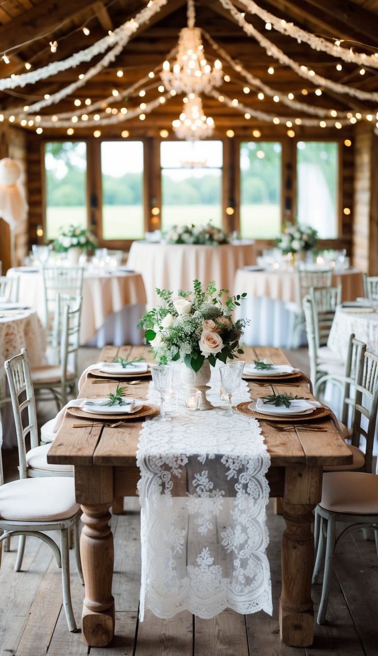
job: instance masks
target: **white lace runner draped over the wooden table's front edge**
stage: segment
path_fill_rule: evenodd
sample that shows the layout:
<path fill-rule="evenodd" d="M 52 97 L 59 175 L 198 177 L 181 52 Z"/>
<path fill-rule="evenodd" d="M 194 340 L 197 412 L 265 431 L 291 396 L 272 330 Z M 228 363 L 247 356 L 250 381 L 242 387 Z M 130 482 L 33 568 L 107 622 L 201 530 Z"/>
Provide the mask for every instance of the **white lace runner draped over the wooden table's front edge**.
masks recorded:
<path fill-rule="evenodd" d="M 207 398 L 220 405 L 219 372 Z M 242 381 L 241 401 L 249 400 Z M 150 384 L 148 399 L 158 401 Z M 225 608 L 272 614 L 266 472 L 259 422 L 222 417 L 225 407 L 169 422 L 144 422 L 137 464 L 141 510 L 140 620 L 188 610 L 210 619 Z"/>

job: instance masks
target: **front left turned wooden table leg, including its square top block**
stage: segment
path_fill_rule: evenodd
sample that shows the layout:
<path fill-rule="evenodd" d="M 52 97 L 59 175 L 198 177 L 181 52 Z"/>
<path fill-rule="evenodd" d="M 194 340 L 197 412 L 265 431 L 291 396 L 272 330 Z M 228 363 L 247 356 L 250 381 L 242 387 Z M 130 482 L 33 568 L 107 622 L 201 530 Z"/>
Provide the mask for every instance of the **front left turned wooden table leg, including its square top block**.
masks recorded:
<path fill-rule="evenodd" d="M 105 647 L 114 636 L 114 544 L 109 523 L 109 508 L 113 502 L 112 468 L 76 466 L 75 490 L 84 524 L 80 538 L 85 584 L 83 642 L 91 647 Z"/>

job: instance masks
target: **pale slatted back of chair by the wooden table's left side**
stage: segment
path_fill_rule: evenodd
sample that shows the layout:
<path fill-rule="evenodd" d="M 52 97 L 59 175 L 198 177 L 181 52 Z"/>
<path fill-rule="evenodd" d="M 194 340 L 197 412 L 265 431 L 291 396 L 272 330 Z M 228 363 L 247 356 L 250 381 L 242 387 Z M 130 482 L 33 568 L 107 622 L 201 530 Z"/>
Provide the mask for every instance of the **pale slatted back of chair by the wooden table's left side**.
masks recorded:
<path fill-rule="evenodd" d="M 5 371 L 7 372 L 14 423 L 16 424 L 20 478 L 26 478 L 26 436 L 30 434 L 32 449 L 38 446 L 37 413 L 35 411 L 34 390 L 26 348 L 22 348 L 21 353 L 14 356 L 14 358 L 5 361 Z M 28 423 L 23 426 L 22 412 L 26 409 L 28 410 Z"/>

